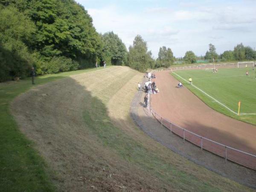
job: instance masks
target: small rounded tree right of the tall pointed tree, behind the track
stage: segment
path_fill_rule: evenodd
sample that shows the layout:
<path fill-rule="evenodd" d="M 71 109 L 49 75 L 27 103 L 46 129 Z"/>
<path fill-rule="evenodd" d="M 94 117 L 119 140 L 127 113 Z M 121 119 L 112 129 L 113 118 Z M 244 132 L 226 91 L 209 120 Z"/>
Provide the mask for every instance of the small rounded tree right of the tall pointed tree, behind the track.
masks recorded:
<path fill-rule="evenodd" d="M 165 46 L 160 47 L 156 63 L 157 67 L 170 67 L 174 63 L 172 49 L 166 49 Z"/>

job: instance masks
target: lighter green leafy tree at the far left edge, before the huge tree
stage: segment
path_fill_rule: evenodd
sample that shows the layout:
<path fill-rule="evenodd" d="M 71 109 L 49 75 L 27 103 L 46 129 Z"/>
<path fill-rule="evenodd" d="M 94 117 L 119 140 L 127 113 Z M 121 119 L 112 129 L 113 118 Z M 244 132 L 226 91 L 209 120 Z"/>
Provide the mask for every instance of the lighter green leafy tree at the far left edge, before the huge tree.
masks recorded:
<path fill-rule="evenodd" d="M 0 81 L 29 74 L 35 61 L 26 44 L 34 32 L 34 24 L 18 9 L 0 9 Z"/>

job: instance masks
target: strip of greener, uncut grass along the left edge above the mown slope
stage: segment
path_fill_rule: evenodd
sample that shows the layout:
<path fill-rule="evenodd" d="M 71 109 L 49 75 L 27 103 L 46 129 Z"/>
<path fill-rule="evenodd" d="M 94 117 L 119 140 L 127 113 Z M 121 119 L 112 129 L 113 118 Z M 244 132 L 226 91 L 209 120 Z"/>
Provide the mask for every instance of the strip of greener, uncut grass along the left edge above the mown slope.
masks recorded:
<path fill-rule="evenodd" d="M 46 163 L 33 149 L 33 143 L 20 133 L 10 114 L 12 100 L 37 85 L 93 70 L 96 69 L 39 76 L 35 85 L 31 84 L 30 78 L 0 83 L 0 191 L 54 190 L 45 172 Z"/>

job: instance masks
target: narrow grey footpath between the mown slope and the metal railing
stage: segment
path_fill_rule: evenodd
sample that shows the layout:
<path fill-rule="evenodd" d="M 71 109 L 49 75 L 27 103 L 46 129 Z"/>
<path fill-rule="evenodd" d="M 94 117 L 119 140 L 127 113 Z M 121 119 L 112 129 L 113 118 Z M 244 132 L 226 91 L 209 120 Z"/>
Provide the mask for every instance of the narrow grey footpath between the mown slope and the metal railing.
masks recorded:
<path fill-rule="evenodd" d="M 145 79 L 141 85 L 143 86 Z M 149 137 L 171 149 L 177 154 L 191 160 L 192 162 L 204 166 L 206 169 L 218 173 L 224 177 L 234 180 L 242 185 L 256 189 L 256 171 L 240 166 L 231 161 L 225 162 L 225 159 L 212 154 L 209 151 L 201 151 L 201 148 L 189 143 L 169 129 L 161 126 L 161 123 L 154 119 L 147 108 L 144 108 L 143 98 L 145 92 L 137 92 L 131 102 L 131 117 L 142 131 Z"/>

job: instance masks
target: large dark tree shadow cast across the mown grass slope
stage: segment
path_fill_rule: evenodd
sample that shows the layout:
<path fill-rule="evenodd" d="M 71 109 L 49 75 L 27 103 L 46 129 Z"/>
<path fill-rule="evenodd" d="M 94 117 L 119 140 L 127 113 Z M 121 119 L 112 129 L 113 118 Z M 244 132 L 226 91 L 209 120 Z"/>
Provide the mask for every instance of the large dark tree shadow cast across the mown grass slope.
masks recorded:
<path fill-rule="evenodd" d="M 50 169 L 46 170 L 60 191 L 89 191 L 91 186 L 99 191 L 120 191 L 120 186 L 131 191 L 189 191 L 191 186 L 197 191 L 216 188 L 214 182 L 202 182 L 202 178 L 188 172 L 189 166 L 181 165 L 183 160 L 162 158 L 164 154 L 148 150 L 113 125 L 106 104 L 75 79 L 55 81 L 20 95 L 13 102 L 12 113 L 20 130 L 44 156 Z M 122 124 L 121 119 L 115 120 Z M 27 171 L 27 167 L 28 170 L 41 168 L 40 162 L 30 162 L 28 151 L 19 149 L 20 146 L 26 149 L 26 139 L 15 138 L 17 145 L 10 147 L 14 143 L 12 134 L 17 138 L 22 135 L 17 126 L 15 133 L 6 130 L 3 134 L 9 137 L 6 139 L 9 150 L 3 151 L 6 169 L 2 189 L 43 190 L 41 177 Z M 34 184 L 37 188 L 29 184 L 32 178 L 39 178 Z"/>

